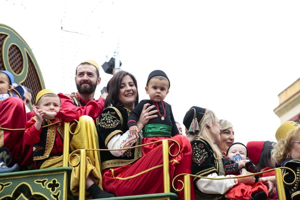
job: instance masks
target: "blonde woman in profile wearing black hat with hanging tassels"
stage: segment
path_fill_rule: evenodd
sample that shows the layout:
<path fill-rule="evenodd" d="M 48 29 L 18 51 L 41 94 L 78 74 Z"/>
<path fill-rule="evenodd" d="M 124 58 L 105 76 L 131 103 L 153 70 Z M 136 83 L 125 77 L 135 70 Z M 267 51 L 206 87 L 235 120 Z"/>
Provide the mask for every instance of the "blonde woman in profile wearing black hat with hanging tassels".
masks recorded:
<path fill-rule="evenodd" d="M 219 120 L 211 110 L 191 107 L 183 119 L 187 136 L 192 145 L 192 173 L 193 175 L 209 178 L 225 177 L 222 163 L 222 153 L 217 143 L 220 142 Z M 245 174 L 247 172 L 244 172 Z M 226 177 L 234 175 L 227 175 Z M 271 182 L 259 179 L 268 187 L 268 193 L 274 193 Z M 196 199 L 219 199 L 230 188 L 238 183 L 254 184 L 255 178 L 234 178 L 227 180 L 209 180 L 203 178 L 193 179 Z"/>

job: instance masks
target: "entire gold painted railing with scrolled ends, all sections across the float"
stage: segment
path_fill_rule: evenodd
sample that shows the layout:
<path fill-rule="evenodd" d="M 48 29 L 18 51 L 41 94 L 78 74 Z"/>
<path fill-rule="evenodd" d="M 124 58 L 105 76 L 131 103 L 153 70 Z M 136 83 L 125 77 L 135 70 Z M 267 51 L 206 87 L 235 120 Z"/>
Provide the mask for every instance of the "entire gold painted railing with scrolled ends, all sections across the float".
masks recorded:
<path fill-rule="evenodd" d="M 76 121 L 76 120 L 75 120 Z M 55 122 L 53 124 L 49 124 L 43 127 L 49 127 L 49 126 L 53 126 L 55 124 L 60 123 L 61 121 Z M 78 154 L 75 154 L 76 156 L 79 157 L 79 162 L 76 163 L 76 165 L 73 166 L 77 166 L 80 164 L 80 173 L 79 176 L 80 177 L 85 177 L 85 167 L 81 167 L 81 166 L 85 166 L 86 165 L 86 151 L 118 151 L 118 150 L 128 150 L 128 149 L 133 149 L 133 148 L 137 148 L 137 147 L 142 147 L 142 146 L 146 146 L 146 145 L 150 145 L 153 143 L 157 143 L 157 142 L 162 142 L 162 148 L 163 148 L 163 173 L 164 173 L 164 192 L 165 193 L 169 193 L 170 192 L 170 175 L 169 175 L 169 155 L 171 156 L 177 156 L 180 152 L 180 145 L 178 142 L 176 142 L 175 140 L 172 139 L 165 139 L 165 140 L 160 140 L 160 141 L 156 141 L 156 142 L 151 142 L 148 144 L 144 144 L 144 145 L 138 145 L 135 147 L 129 147 L 129 148 L 124 148 L 124 149 L 78 149 L 76 151 L 73 151 L 70 155 L 69 155 L 69 147 L 70 147 L 70 134 L 72 135 L 76 135 L 79 130 L 80 127 L 78 128 L 78 130 L 76 131 L 76 133 L 72 133 L 72 129 L 75 127 L 75 125 L 79 126 L 78 121 L 74 122 L 73 124 L 70 125 L 70 122 L 64 122 L 64 150 L 63 150 L 63 166 L 67 167 L 69 166 L 68 163 L 69 162 L 69 158 L 71 156 L 73 156 L 76 152 L 80 152 L 80 156 Z M 2 130 L 25 130 L 25 129 L 7 129 L 7 128 L 3 128 L 0 126 L 0 129 Z M 172 144 L 169 147 L 169 142 L 168 141 L 173 141 L 176 142 L 179 146 L 179 151 L 177 154 L 172 155 L 170 153 L 170 148 L 174 145 Z M 80 162 L 81 161 L 81 162 Z M 71 163 L 70 163 L 71 165 Z M 72 165 L 71 165 L 72 166 Z M 264 172 L 258 172 L 255 174 L 249 174 L 249 175 L 239 175 L 239 176 L 235 176 L 235 177 L 225 177 L 225 178 L 208 178 L 208 177 L 202 177 L 202 176 L 196 176 L 196 175 L 191 175 L 191 174 L 179 174 L 177 175 L 173 181 L 172 181 L 172 186 L 176 191 L 182 191 L 184 189 L 184 199 L 185 200 L 190 200 L 190 178 L 191 177 L 196 177 L 196 178 L 204 178 L 204 179 L 211 179 L 211 180 L 224 180 L 224 179 L 232 179 L 232 178 L 245 178 L 245 177 L 249 177 L 249 176 L 255 176 L 255 175 L 259 175 L 259 174 L 263 174 L 263 173 L 267 173 L 267 172 L 271 172 L 271 171 L 275 171 L 275 177 L 276 177 L 276 184 L 277 184 L 277 193 L 278 193 L 278 198 L 279 200 L 286 200 L 286 196 L 285 196 L 285 192 L 284 192 L 284 184 L 286 185 L 292 185 L 295 183 L 296 181 L 296 175 L 295 175 L 295 180 L 292 183 L 286 183 L 284 181 L 284 177 L 286 175 L 288 175 L 288 173 L 285 173 L 284 175 L 282 175 L 281 169 L 286 169 L 291 171 L 294 175 L 295 172 L 287 167 L 278 167 L 278 168 L 274 168 L 274 169 L 270 169 Z M 179 182 L 182 183 L 182 188 L 176 189 L 174 187 L 174 181 L 176 181 L 177 178 L 179 178 L 180 176 L 184 176 L 184 182 L 178 180 Z M 79 177 L 79 199 L 85 199 L 85 178 L 80 178 Z M 66 195 L 67 196 L 67 195 Z"/>

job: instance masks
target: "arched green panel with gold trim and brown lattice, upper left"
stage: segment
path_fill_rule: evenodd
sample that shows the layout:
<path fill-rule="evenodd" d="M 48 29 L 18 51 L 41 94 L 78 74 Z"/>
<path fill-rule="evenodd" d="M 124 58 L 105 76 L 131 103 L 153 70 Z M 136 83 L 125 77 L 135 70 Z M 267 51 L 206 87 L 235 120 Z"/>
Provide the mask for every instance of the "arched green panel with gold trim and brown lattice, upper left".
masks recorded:
<path fill-rule="evenodd" d="M 7 70 L 15 82 L 33 91 L 32 102 L 45 89 L 43 76 L 30 47 L 12 28 L 0 24 L 0 70 Z"/>

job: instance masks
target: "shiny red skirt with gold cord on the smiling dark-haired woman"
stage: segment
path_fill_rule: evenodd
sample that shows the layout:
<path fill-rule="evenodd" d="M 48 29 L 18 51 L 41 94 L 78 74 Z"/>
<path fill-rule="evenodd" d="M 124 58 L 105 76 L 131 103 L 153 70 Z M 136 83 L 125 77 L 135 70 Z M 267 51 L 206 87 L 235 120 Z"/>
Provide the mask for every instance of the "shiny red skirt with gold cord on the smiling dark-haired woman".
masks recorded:
<path fill-rule="evenodd" d="M 180 153 L 170 160 L 170 184 L 172 190 L 172 181 L 176 175 L 187 173 L 191 174 L 192 148 L 186 136 L 177 135 L 172 138 L 153 137 L 144 138 L 143 144 L 150 141 L 161 139 L 173 139 L 177 141 L 181 148 Z M 175 142 L 169 141 L 169 146 Z M 176 154 L 179 148 L 174 144 L 170 149 L 171 154 Z M 102 177 L 103 189 L 113 193 L 116 196 L 131 196 L 142 194 L 154 194 L 164 192 L 163 167 L 162 167 L 162 145 L 161 142 L 142 148 L 143 157 L 135 163 L 105 170 Z M 183 176 L 178 180 L 183 181 Z M 191 184 L 191 199 L 195 199 L 193 182 Z M 179 181 L 175 181 L 176 188 L 182 188 Z M 180 199 L 184 199 L 183 190 L 178 193 Z"/>

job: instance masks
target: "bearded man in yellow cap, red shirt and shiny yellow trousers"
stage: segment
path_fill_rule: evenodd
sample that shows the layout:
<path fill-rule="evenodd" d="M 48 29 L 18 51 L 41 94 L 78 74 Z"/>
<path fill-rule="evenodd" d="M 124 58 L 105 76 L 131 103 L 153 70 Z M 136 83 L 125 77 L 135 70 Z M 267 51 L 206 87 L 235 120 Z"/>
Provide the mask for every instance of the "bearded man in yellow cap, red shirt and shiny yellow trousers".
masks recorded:
<path fill-rule="evenodd" d="M 76 68 L 75 83 L 77 92 L 71 94 L 58 93 L 61 99 L 61 108 L 76 110 L 79 114 L 79 126 L 76 127 L 75 132 L 79 130 L 78 134 L 73 135 L 70 142 L 70 149 L 99 149 L 98 134 L 95 127 L 94 120 L 98 118 L 103 111 L 106 94 L 101 95 L 99 99 L 95 100 L 95 90 L 97 85 L 101 82 L 99 75 L 99 66 L 93 60 L 86 60 L 80 63 Z M 102 190 L 102 177 L 100 168 L 99 151 L 87 151 L 90 165 L 86 166 L 86 174 L 91 176 L 91 179 L 86 180 L 85 187 L 92 194 L 94 199 L 113 197 L 113 194 Z M 61 157 L 55 162 L 50 162 L 45 165 L 45 168 L 56 167 L 52 163 L 61 162 Z M 79 171 L 76 175 L 79 175 Z M 72 187 L 73 185 L 73 187 Z M 71 191 L 73 194 L 78 194 L 77 187 L 79 179 L 71 183 Z M 97 198 L 96 198 L 97 197 Z"/>

